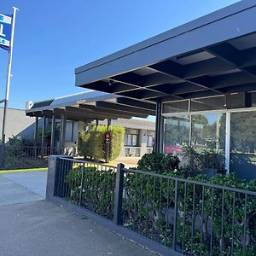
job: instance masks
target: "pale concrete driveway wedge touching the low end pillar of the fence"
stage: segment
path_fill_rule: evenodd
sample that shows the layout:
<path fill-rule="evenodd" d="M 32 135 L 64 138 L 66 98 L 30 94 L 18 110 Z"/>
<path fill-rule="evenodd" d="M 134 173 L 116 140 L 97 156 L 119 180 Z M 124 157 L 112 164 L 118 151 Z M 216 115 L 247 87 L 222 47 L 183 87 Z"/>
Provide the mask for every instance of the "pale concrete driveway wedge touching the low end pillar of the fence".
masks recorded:
<path fill-rule="evenodd" d="M 5 173 L 0 176 L 7 177 L 14 183 L 20 184 L 22 187 L 31 190 L 32 192 L 45 197 L 47 172 L 17 172 Z"/>

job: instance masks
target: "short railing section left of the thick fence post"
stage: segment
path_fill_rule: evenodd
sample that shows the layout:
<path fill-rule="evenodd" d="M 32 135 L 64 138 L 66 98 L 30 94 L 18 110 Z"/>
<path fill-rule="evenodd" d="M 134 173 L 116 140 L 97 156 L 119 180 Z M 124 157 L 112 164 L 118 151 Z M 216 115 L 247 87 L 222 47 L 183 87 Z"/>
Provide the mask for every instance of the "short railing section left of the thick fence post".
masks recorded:
<path fill-rule="evenodd" d="M 113 219 L 117 167 L 59 158 L 55 196 Z"/>

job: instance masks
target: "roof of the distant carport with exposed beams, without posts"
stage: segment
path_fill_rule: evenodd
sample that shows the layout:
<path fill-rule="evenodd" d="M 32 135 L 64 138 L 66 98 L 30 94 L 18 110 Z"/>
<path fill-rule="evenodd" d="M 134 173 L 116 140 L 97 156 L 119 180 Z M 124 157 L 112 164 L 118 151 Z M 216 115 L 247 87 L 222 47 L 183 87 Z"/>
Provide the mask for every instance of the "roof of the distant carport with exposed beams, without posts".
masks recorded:
<path fill-rule="evenodd" d="M 124 101 L 123 101 L 124 100 Z M 125 99 L 108 93 L 87 91 L 71 96 L 63 96 L 43 102 L 35 102 L 26 110 L 31 117 L 61 119 L 65 115 L 68 120 L 90 122 L 94 119 L 131 119 L 131 117 L 147 118 L 154 115 L 155 104 L 141 103 L 135 108 L 126 106 Z"/>

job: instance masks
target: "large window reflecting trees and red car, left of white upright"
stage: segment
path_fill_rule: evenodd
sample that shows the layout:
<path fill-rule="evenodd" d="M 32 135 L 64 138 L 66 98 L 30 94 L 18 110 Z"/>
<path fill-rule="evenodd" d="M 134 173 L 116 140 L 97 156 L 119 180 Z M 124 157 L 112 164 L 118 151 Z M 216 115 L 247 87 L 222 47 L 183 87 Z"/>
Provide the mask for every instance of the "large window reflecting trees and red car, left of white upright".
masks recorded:
<path fill-rule="evenodd" d="M 224 158 L 225 122 L 225 113 L 166 118 L 164 152 L 183 154 L 183 145 L 191 143 L 199 152 L 211 148 Z"/>

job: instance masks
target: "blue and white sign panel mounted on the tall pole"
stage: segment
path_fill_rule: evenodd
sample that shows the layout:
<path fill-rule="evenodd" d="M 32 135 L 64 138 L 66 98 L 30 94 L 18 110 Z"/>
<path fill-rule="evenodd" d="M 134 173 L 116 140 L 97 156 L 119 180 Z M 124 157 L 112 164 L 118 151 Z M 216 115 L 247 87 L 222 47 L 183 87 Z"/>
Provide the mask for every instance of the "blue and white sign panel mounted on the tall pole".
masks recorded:
<path fill-rule="evenodd" d="M 0 14 L 0 47 L 9 49 L 12 17 Z"/>

